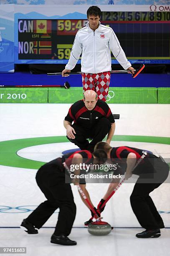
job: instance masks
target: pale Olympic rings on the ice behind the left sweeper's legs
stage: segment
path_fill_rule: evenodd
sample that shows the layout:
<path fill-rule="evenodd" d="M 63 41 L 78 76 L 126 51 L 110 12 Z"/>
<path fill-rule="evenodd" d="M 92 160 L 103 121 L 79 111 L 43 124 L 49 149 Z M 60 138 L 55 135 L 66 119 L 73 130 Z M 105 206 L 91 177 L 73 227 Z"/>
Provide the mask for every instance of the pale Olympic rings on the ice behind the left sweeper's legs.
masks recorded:
<path fill-rule="evenodd" d="M 23 205 L 17 207 L 10 207 L 0 205 L 0 212 L 2 213 L 23 213 L 23 212 L 31 212 L 36 209 L 38 205 Z M 59 209 L 57 209 L 54 213 L 58 213 Z"/>

